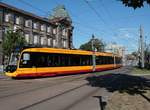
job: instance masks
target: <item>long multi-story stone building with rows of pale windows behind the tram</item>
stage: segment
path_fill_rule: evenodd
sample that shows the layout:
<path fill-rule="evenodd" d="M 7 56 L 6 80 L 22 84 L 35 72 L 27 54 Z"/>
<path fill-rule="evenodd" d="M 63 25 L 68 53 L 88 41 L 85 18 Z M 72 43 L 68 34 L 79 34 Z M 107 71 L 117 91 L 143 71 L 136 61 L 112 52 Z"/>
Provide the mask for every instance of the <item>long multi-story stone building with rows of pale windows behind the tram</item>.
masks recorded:
<path fill-rule="evenodd" d="M 0 2 L 0 65 L 2 42 L 7 30 L 22 30 L 28 44 L 72 48 L 72 22 L 65 17 L 43 18 Z"/>

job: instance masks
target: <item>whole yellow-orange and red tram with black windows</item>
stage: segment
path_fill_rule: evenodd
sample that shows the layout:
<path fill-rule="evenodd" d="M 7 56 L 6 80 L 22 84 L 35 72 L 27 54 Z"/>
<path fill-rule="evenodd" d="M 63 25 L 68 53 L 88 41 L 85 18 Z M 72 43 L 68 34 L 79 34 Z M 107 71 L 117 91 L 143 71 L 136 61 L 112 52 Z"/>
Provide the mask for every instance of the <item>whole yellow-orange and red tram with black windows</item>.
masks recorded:
<path fill-rule="evenodd" d="M 27 48 L 12 54 L 6 69 L 10 77 L 42 77 L 93 71 L 93 52 L 56 48 Z M 121 57 L 94 52 L 95 69 L 102 71 L 121 67 Z"/>

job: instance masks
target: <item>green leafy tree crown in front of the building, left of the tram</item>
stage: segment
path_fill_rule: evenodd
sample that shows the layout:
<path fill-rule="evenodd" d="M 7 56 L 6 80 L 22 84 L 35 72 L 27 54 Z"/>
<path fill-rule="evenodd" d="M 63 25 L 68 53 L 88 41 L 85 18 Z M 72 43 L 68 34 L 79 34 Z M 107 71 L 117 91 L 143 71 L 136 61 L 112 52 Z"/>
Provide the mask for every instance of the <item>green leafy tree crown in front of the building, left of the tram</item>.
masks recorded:
<path fill-rule="evenodd" d="M 7 31 L 2 42 L 3 53 L 4 55 L 10 56 L 11 52 L 14 51 L 16 47 L 22 47 L 25 44 L 25 38 L 20 31 Z"/>

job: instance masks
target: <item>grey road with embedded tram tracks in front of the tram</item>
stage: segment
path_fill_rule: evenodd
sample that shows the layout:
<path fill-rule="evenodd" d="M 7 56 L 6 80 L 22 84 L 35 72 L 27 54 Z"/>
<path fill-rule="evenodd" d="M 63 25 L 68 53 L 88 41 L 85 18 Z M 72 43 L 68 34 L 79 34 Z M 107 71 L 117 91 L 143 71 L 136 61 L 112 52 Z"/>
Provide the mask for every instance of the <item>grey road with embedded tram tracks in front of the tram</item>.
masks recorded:
<path fill-rule="evenodd" d="M 106 89 L 119 77 L 129 74 L 123 67 L 108 75 L 88 73 L 38 79 L 0 79 L 0 110 L 104 110 L 112 92 Z M 97 86 L 97 79 L 108 79 Z M 98 83 L 99 84 L 99 83 Z M 114 85 L 115 86 L 115 85 Z M 117 85 L 116 85 L 117 86 Z"/>

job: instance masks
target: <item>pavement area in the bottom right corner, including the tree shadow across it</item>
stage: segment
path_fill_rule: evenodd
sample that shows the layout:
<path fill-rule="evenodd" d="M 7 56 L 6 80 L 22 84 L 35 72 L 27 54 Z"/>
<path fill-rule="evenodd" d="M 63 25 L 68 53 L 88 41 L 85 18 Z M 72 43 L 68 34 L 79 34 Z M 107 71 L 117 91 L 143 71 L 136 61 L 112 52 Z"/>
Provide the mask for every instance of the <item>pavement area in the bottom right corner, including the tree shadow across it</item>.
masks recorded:
<path fill-rule="evenodd" d="M 150 70 L 133 69 L 115 85 L 118 89 L 108 100 L 106 110 L 149 110 Z"/>

